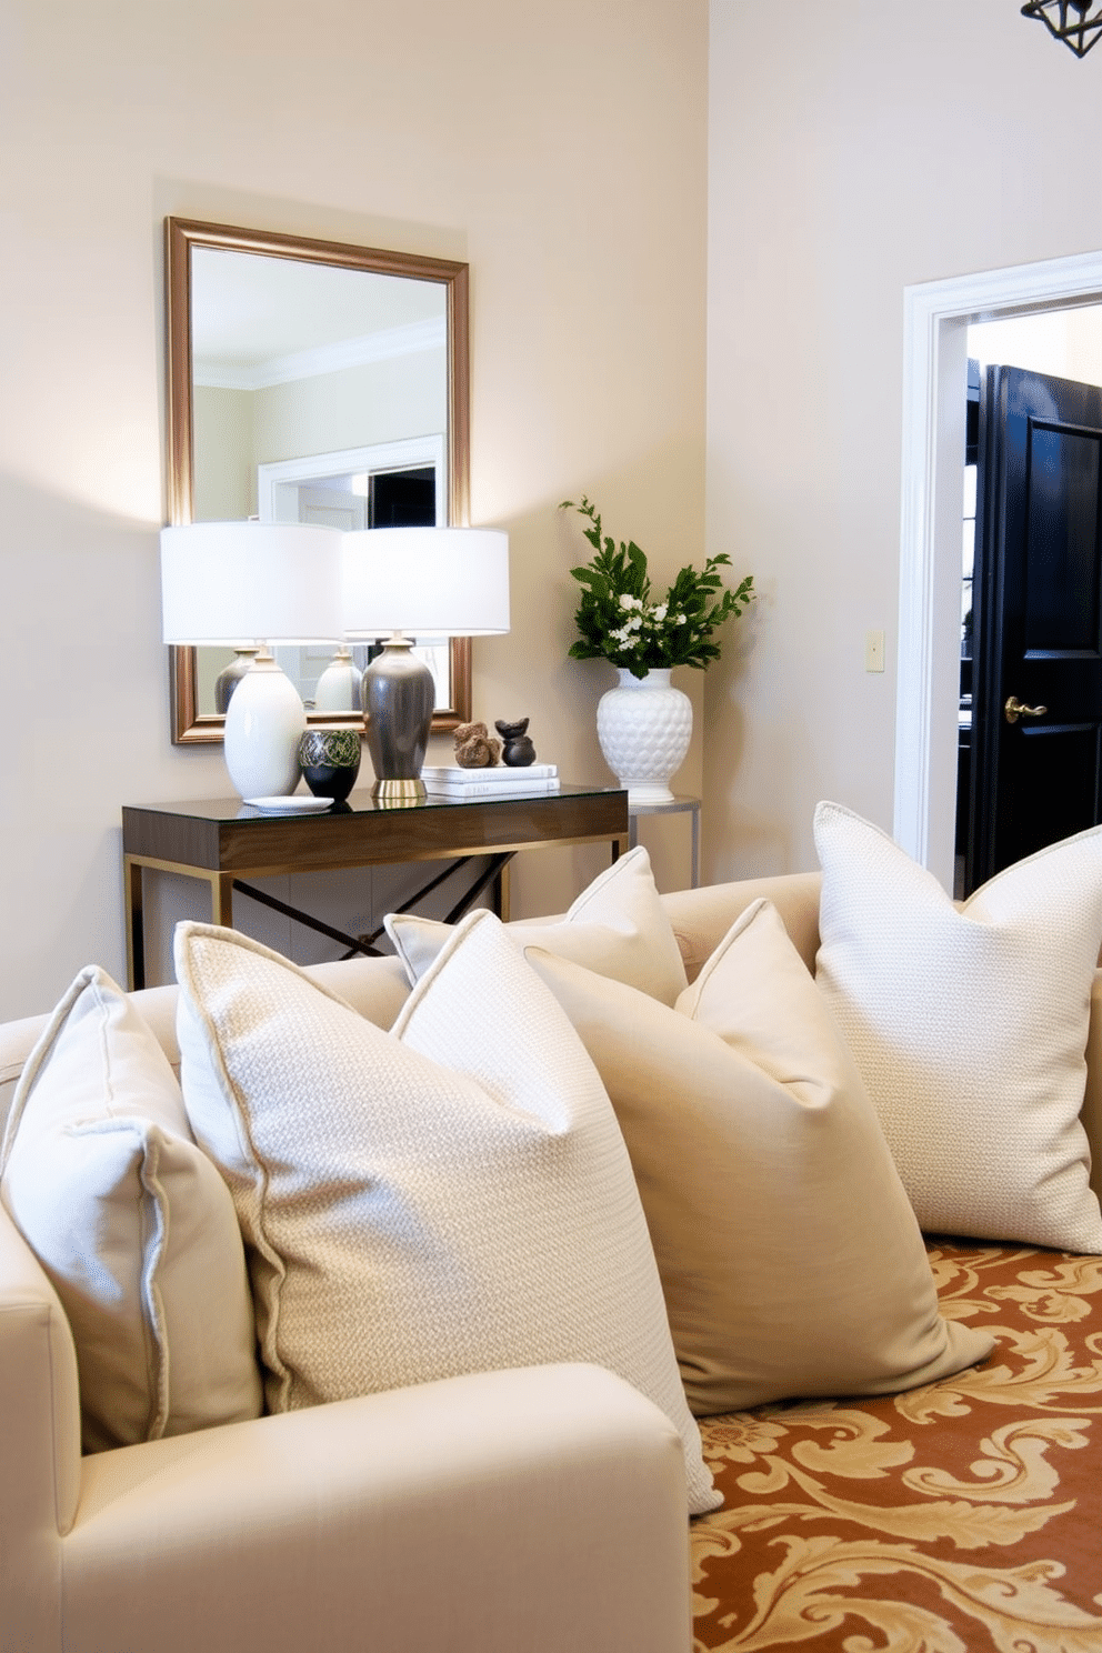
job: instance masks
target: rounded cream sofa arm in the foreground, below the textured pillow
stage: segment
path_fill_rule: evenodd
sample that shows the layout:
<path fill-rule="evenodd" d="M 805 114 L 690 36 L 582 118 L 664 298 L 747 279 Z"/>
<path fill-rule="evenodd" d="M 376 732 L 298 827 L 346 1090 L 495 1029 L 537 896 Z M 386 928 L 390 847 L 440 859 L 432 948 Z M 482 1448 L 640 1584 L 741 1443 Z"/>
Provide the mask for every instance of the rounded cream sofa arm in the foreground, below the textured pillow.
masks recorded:
<path fill-rule="evenodd" d="M 691 1645 L 681 1440 L 598 1367 L 449 1379 L 83 1470 L 64 1643 L 35 1653 Z"/>

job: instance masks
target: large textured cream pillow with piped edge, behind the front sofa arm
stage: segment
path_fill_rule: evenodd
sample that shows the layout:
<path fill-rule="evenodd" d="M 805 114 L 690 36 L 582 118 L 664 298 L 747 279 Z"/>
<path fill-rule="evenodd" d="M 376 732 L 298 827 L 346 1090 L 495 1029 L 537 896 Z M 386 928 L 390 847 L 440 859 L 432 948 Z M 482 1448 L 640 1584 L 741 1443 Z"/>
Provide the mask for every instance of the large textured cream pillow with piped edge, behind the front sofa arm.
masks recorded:
<path fill-rule="evenodd" d="M 177 927 L 183 1099 L 251 1248 L 273 1412 L 461 1372 L 611 1367 L 701 1458 L 631 1165 L 593 1065 L 489 912 L 392 1033 L 302 970 Z"/>

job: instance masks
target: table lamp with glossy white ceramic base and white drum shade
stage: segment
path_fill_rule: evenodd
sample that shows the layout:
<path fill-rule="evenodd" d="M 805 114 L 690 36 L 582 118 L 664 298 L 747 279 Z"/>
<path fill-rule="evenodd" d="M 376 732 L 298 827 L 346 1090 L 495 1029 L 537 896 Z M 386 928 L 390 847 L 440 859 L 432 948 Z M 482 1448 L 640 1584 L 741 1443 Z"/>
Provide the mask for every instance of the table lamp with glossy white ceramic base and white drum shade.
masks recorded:
<path fill-rule="evenodd" d="M 226 769 L 243 798 L 294 792 L 306 709 L 268 645 L 340 638 L 340 532 L 309 522 L 165 527 L 160 615 L 165 643 L 256 650 L 226 706 Z"/>

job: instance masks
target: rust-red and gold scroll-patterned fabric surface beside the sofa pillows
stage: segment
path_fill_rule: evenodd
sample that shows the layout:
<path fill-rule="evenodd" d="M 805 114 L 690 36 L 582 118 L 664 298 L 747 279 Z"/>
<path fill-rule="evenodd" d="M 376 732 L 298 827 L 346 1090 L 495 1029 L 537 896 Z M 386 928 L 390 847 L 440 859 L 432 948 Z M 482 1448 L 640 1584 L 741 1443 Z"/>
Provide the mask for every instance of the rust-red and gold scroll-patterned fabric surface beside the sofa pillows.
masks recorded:
<path fill-rule="evenodd" d="M 981 1367 L 702 1420 L 697 1653 L 1102 1653 L 1102 1258 L 929 1250 Z"/>

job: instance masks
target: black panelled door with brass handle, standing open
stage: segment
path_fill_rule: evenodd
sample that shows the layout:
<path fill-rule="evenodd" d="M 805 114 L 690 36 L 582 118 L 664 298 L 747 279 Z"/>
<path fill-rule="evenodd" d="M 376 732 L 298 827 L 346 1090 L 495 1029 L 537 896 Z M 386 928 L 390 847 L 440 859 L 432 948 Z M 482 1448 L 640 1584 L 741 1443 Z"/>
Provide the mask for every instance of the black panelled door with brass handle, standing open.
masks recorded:
<path fill-rule="evenodd" d="M 1102 818 L 1102 390 L 988 367 L 967 889 Z"/>

